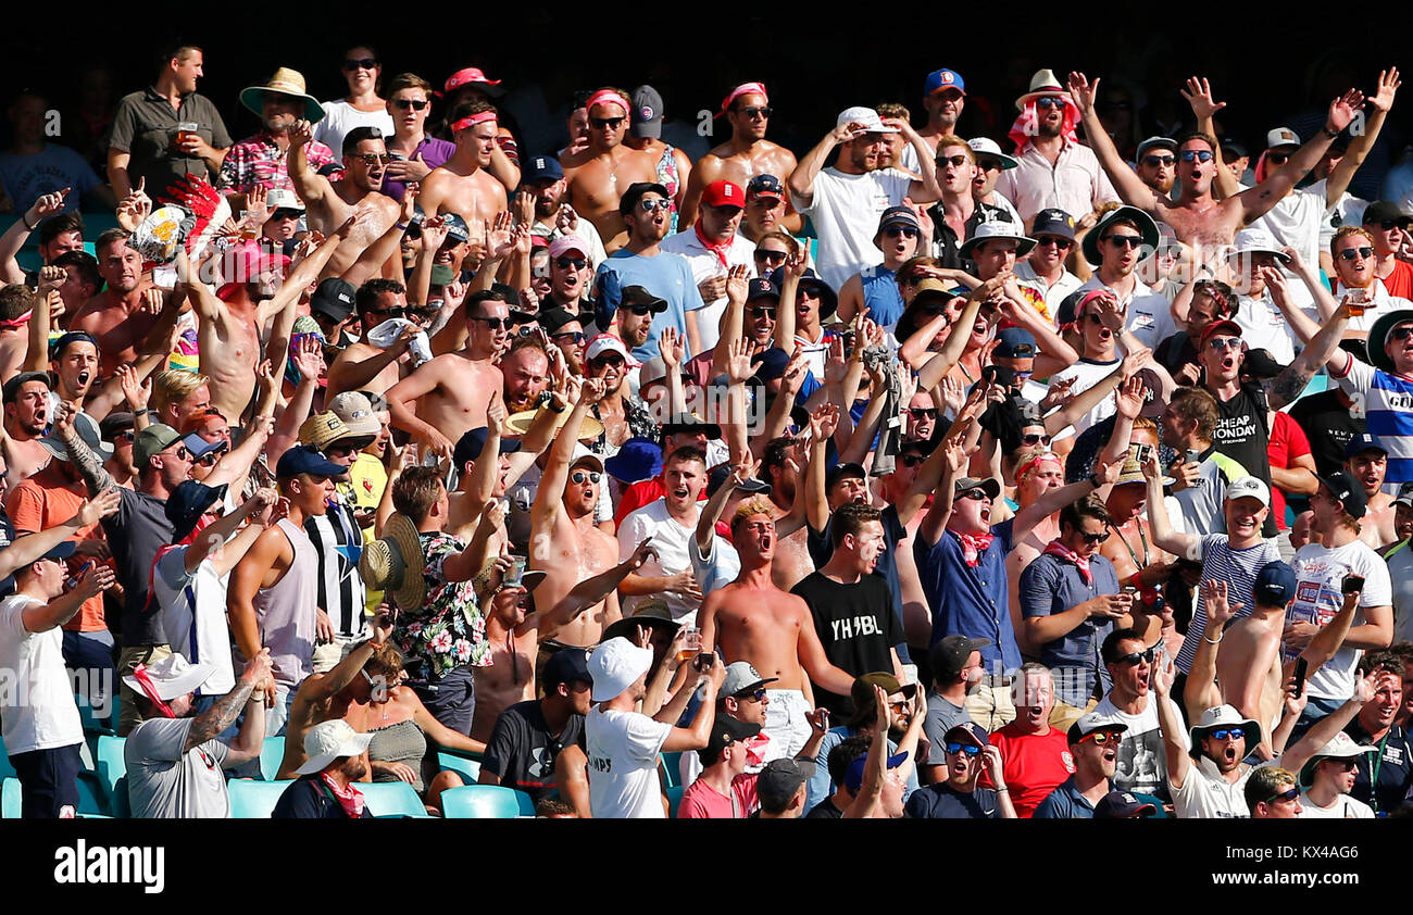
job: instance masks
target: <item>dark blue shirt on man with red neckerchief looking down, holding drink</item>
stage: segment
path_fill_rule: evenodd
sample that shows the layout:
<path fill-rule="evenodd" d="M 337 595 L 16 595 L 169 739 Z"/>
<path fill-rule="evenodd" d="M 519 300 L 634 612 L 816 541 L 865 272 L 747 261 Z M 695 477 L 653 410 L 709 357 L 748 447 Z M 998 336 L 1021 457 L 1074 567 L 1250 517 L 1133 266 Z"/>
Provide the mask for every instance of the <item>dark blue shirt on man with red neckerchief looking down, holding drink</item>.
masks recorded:
<path fill-rule="evenodd" d="M 1119 576 L 1112 562 L 1095 554 L 1089 558 L 1089 572 L 1092 585 L 1085 583 L 1072 562 L 1044 554 L 1036 556 L 1020 573 L 1020 616 L 1027 620 L 1054 616 L 1091 597 L 1119 593 Z M 1101 676 L 1105 681 L 1101 692 L 1108 692 L 1109 672 L 1099 659 L 1099 645 L 1112 631 L 1113 620 L 1085 617 L 1075 628 L 1040 647 L 1040 662 L 1056 671 L 1057 699 L 1082 709 Z"/>

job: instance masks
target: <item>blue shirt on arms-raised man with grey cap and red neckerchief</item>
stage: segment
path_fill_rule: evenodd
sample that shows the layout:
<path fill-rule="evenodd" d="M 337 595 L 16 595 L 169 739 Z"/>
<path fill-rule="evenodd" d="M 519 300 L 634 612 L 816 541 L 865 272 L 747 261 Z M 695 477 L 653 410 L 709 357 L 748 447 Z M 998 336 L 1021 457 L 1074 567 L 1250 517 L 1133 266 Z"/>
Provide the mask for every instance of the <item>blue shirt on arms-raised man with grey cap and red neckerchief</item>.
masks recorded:
<path fill-rule="evenodd" d="M 952 531 L 942 531 L 935 545 L 930 545 L 923 537 L 913 541 L 917 578 L 927 596 L 927 606 L 933 609 L 931 645 L 948 635 L 989 638 L 991 644 L 978 651 L 992 674 L 1020 666 L 1020 648 L 1016 647 L 1016 631 L 1010 624 L 1006 587 L 1012 521 L 1006 518 L 991 528 L 995 539 L 981 552 L 975 566 L 966 565 L 962 542 Z"/>

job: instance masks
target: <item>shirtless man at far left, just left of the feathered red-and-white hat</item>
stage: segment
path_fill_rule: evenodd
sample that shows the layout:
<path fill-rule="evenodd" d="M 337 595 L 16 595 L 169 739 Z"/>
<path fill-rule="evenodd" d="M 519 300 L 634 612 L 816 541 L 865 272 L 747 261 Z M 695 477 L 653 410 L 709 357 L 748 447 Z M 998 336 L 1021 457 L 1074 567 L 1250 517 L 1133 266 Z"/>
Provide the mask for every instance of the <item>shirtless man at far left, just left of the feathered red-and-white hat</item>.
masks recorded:
<path fill-rule="evenodd" d="M 137 361 L 137 349 L 157 326 L 162 294 L 143 278 L 143 256 L 127 246 L 126 229 L 109 229 L 97 237 L 97 271 L 106 288 L 79 306 L 69 330 L 85 330 L 97 340 L 103 366 L 112 374 Z"/>

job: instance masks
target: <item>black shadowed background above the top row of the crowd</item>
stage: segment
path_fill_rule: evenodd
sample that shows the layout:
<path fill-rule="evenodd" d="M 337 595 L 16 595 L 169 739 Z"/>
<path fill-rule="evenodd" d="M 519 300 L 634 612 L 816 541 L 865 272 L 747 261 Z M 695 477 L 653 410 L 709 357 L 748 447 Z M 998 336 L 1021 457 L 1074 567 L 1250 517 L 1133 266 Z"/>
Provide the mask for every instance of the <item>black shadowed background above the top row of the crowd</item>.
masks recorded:
<path fill-rule="evenodd" d="M 64 14 L 72 21 L 35 20 L 32 25 L 24 21 L 32 13 L 7 14 L 13 27 L 3 42 L 8 47 L 0 45 L 0 85 L 6 96 L 21 86 L 41 88 L 52 104 L 68 110 L 83 68 L 99 65 L 113 73 L 116 102 L 151 82 L 158 48 L 181 37 L 205 49 L 206 76 L 199 92 L 216 102 L 232 136 L 240 138 L 256 128 L 254 116 L 236 102 L 242 88 L 288 65 L 304 72 L 317 97 L 339 97 L 345 92 L 338 69 L 343 49 L 372 42 L 384 62 L 384 76 L 413 71 L 441 83 L 456 68 L 478 65 L 507 88 L 523 90 L 538 83 L 555 126 L 577 89 L 630 89 L 650 82 L 663 93 L 668 119 L 695 123 L 695 113 L 715 112 L 731 86 L 759 79 L 776 107 L 771 138 L 804 152 L 849 104 L 901 102 L 921 124 L 923 78 L 938 66 L 951 66 L 966 80 L 961 133 L 992 136 L 1003 148 L 1013 100 L 1037 68 L 1054 68 L 1061 78 L 1080 68 L 1091 78 L 1126 82 L 1140 103 L 1137 138 L 1154 133 L 1154 124 L 1190 117 L 1178 89 L 1188 75 L 1204 73 L 1212 79 L 1217 97 L 1229 103 L 1225 116 L 1218 116 L 1219 126 L 1255 151 L 1275 126 L 1311 136 L 1338 90 L 1372 90 L 1381 66 L 1399 62 L 1409 25 L 1385 21 L 1378 31 L 1345 28 L 1345 41 L 1338 23 L 1272 23 L 1266 35 L 1260 25 L 1243 21 L 1245 13 L 1226 13 L 1222 23 L 1211 11 L 1194 10 L 1191 18 L 1198 24 L 1190 27 L 1191 35 L 1183 35 L 1187 20 L 1177 10 L 1163 21 L 1145 21 L 1149 11 L 1133 4 L 1033 10 L 996 4 L 989 17 L 971 4 L 928 14 L 858 7 L 852 18 L 822 6 L 788 4 L 769 13 L 743 13 L 732 4 L 731 18 L 708 13 L 705 6 L 697 7 L 702 11 L 694 17 L 685 7 L 673 11 L 627 4 L 603 4 L 596 7 L 602 13 L 592 16 L 547 4 L 516 6 L 514 16 L 504 7 L 430 3 L 208 8 L 213 13 L 112 7 L 106 18 L 75 8 Z M 1231 38 L 1211 38 L 1218 31 Z M 1413 136 L 1409 96 L 1413 88 L 1405 90 L 1359 175 L 1354 191 L 1361 196 L 1376 195 L 1382 174 Z"/>

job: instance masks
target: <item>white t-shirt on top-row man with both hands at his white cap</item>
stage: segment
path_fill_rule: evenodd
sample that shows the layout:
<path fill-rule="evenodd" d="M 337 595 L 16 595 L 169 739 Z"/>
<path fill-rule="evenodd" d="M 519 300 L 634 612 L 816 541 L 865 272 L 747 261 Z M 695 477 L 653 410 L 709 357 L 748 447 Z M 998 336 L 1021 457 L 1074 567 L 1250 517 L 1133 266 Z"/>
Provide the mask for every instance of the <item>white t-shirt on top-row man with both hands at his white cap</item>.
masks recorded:
<path fill-rule="evenodd" d="M 911 182 L 896 168 L 845 175 L 831 165 L 815 177 L 808 206 L 790 195 L 796 210 L 814 223 L 820 236 L 817 268 L 832 289 L 865 267 L 883 263 L 883 251 L 873 244 L 879 219 L 903 202 Z"/>

